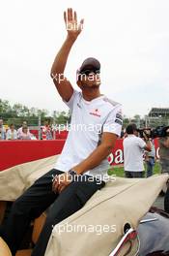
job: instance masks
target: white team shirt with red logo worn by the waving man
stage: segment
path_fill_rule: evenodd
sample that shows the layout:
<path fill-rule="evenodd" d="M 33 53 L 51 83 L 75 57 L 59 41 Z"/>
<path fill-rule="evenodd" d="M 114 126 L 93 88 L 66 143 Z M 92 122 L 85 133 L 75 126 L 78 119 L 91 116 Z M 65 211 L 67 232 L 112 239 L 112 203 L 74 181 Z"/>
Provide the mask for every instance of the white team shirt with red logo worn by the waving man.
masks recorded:
<path fill-rule="evenodd" d="M 97 148 L 102 132 L 121 135 L 122 106 L 104 95 L 90 102 L 86 101 L 82 93 L 76 90 L 73 91 L 70 101 L 65 103 L 71 112 L 70 129 L 55 169 L 68 172 Z M 85 174 L 102 176 L 107 173 L 108 167 L 108 160 L 105 159 Z"/>

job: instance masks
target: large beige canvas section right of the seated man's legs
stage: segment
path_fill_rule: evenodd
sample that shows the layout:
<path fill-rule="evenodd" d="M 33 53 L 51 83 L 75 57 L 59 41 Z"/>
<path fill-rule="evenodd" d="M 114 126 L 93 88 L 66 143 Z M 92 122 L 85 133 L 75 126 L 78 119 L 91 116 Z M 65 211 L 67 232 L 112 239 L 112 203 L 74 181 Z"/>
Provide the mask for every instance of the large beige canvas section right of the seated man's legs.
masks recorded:
<path fill-rule="evenodd" d="M 45 256 L 108 256 L 123 237 L 124 225 L 138 226 L 167 179 L 168 175 L 117 177 L 108 182 L 82 209 L 54 227 Z M 97 227 L 103 231 L 105 225 L 115 225 L 116 232 L 98 235 Z"/>

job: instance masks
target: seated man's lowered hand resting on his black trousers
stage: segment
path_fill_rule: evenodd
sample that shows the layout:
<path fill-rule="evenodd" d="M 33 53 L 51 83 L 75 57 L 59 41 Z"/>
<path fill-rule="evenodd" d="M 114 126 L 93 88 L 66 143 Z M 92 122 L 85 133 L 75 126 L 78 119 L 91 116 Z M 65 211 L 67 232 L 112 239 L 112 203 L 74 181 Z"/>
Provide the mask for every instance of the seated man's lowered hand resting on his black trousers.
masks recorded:
<path fill-rule="evenodd" d="M 61 193 L 71 182 L 70 175 L 66 172 L 62 175 L 55 176 L 52 184 L 54 193 Z"/>

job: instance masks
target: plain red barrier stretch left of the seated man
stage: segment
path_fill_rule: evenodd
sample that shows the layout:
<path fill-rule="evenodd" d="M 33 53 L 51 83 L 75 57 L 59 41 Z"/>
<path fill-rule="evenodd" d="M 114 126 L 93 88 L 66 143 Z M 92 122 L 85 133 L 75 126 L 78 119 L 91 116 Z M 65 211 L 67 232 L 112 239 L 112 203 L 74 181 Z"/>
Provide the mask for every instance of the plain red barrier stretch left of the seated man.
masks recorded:
<path fill-rule="evenodd" d="M 0 141 L 0 171 L 15 165 L 60 154 L 65 140 Z"/>

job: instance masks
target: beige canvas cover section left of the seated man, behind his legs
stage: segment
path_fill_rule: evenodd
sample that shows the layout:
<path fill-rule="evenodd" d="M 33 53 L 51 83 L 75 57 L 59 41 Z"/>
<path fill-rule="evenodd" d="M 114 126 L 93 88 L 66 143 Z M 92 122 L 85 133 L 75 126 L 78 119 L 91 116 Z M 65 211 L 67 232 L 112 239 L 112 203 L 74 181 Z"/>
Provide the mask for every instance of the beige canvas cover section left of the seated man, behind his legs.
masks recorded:
<path fill-rule="evenodd" d="M 31 161 L 0 172 L 0 201 L 14 201 L 37 178 L 50 171 L 59 155 Z"/>

